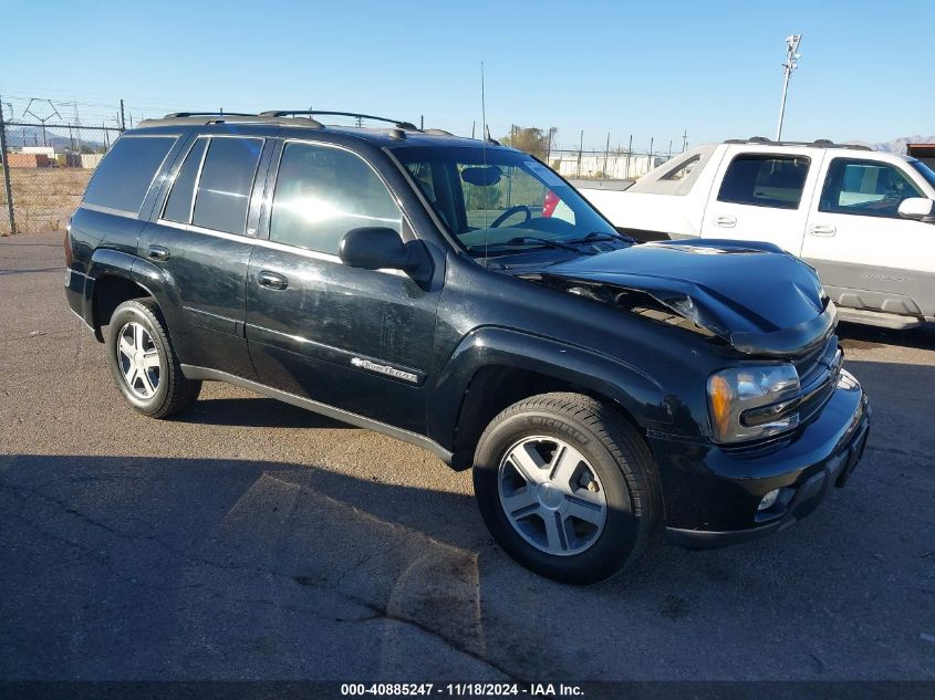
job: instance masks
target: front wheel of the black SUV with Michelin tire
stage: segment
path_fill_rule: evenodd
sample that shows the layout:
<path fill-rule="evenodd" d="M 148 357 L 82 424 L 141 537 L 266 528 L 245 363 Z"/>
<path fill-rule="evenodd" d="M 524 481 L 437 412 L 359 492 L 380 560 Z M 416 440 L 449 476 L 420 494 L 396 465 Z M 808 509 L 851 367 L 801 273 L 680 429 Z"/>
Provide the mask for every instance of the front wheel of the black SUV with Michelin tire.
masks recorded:
<path fill-rule="evenodd" d="M 474 489 L 507 554 L 575 585 L 632 567 L 662 516 L 646 443 L 580 394 L 533 396 L 497 416 L 477 446 Z"/>

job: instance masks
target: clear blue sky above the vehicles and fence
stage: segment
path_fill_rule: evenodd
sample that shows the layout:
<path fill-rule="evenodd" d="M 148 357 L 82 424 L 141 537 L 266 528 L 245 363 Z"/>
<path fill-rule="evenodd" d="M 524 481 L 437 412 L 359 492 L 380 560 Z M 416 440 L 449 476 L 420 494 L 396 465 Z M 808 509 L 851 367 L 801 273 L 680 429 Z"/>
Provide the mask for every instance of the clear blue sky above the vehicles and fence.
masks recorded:
<path fill-rule="evenodd" d="M 568 147 L 584 129 L 585 147 L 610 133 L 677 149 L 683 129 L 689 144 L 773 136 L 798 32 L 783 137 L 935 134 L 932 0 L 2 4 L 0 95 L 17 117 L 49 97 L 100 124 L 123 97 L 134 119 L 312 105 L 469 135 L 484 61 L 495 136 L 515 123 L 555 126 Z"/>

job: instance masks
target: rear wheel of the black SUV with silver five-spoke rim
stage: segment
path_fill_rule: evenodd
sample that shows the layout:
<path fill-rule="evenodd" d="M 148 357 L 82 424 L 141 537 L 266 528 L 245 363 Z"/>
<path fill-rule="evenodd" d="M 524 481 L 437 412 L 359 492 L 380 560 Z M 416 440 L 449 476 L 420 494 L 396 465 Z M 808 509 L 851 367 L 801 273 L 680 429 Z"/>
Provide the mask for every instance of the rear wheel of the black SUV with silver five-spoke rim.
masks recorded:
<path fill-rule="evenodd" d="M 141 414 L 166 418 L 198 398 L 201 383 L 181 373 L 154 301 L 134 299 L 117 306 L 105 349 L 117 388 Z"/>

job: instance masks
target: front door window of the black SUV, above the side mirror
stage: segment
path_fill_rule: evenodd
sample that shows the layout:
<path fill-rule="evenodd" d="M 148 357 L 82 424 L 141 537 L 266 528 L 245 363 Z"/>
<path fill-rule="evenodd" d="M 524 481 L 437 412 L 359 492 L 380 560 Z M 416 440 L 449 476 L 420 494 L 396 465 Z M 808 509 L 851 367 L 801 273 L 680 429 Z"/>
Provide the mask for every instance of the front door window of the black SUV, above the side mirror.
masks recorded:
<path fill-rule="evenodd" d="M 389 190 L 357 156 L 291 143 L 282 152 L 272 199 L 270 240 L 337 254 L 351 229 L 399 231 L 403 215 Z"/>

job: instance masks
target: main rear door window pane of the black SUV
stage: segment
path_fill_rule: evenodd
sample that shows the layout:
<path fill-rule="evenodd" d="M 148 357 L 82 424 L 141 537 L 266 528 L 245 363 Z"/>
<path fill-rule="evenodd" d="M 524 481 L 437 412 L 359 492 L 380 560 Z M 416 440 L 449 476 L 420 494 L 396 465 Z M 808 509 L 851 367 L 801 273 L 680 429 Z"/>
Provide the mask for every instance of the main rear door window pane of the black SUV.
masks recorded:
<path fill-rule="evenodd" d="M 195 195 L 191 223 L 227 233 L 243 233 L 262 149 L 262 138 L 210 139 Z"/>

